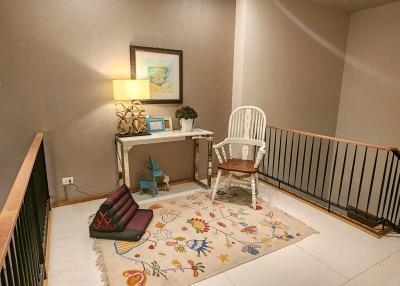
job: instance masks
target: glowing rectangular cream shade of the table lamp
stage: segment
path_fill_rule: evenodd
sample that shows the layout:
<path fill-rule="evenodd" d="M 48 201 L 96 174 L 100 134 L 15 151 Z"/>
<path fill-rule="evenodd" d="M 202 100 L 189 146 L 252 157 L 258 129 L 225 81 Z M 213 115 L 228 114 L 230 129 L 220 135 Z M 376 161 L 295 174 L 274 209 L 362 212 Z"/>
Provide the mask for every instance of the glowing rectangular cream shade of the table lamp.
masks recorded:
<path fill-rule="evenodd" d="M 147 79 L 113 80 L 114 100 L 141 100 L 150 98 Z"/>

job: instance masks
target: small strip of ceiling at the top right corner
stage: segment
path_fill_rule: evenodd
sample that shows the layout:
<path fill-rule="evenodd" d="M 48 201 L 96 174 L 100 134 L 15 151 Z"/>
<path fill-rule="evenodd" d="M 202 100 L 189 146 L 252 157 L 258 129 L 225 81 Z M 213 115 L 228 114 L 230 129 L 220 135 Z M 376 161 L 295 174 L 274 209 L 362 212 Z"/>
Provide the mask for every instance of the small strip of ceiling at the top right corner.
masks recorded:
<path fill-rule="evenodd" d="M 339 10 L 359 11 L 375 6 L 396 2 L 397 0 L 312 0 Z"/>

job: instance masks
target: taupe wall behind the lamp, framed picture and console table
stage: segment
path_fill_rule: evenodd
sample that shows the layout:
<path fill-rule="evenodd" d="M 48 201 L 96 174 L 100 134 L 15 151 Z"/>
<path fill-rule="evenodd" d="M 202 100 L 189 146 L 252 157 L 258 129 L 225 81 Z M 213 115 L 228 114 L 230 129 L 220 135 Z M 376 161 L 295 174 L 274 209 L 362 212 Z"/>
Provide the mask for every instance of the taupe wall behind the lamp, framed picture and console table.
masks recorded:
<path fill-rule="evenodd" d="M 130 43 L 182 49 L 184 104 L 198 111 L 196 126 L 216 132 L 216 140 L 225 136 L 234 1 L 5 0 L 0 11 L 2 197 L 36 130 L 45 131 L 53 200 L 62 199 L 60 180 L 65 176 L 74 176 L 81 190 L 91 194 L 114 188 L 111 79 L 129 77 Z M 171 116 L 176 108 L 146 106 L 155 116 Z M 140 158 L 162 148 L 169 147 L 140 149 Z M 192 148 L 186 143 L 160 154 L 172 179 L 191 175 L 192 160 L 181 155 L 191 154 Z M 183 167 L 176 168 L 178 164 Z"/>

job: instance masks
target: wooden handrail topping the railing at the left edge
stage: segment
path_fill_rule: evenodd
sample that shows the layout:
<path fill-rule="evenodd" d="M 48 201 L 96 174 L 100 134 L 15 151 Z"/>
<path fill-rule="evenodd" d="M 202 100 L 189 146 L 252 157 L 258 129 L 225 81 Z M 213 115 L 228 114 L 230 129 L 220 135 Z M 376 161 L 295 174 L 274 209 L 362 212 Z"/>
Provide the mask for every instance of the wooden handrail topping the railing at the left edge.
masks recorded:
<path fill-rule="evenodd" d="M 42 141 L 43 133 L 37 133 L 19 169 L 4 207 L 0 212 L 0 266 L 3 264 L 4 258 L 7 255 L 8 246 L 18 220 L 32 169 Z"/>

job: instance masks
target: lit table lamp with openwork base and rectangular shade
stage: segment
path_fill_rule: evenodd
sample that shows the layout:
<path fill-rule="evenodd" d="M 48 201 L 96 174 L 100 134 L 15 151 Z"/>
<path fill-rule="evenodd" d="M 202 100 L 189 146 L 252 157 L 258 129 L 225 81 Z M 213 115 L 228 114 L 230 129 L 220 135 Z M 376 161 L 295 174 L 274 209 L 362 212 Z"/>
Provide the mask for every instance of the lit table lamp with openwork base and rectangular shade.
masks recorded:
<path fill-rule="evenodd" d="M 117 101 L 117 136 L 149 134 L 146 128 L 146 111 L 139 100 L 150 98 L 150 85 L 147 79 L 113 80 L 114 100 Z M 122 102 L 121 102 L 122 101 Z M 126 106 L 123 101 L 131 101 Z"/>

